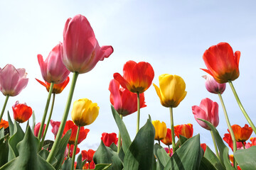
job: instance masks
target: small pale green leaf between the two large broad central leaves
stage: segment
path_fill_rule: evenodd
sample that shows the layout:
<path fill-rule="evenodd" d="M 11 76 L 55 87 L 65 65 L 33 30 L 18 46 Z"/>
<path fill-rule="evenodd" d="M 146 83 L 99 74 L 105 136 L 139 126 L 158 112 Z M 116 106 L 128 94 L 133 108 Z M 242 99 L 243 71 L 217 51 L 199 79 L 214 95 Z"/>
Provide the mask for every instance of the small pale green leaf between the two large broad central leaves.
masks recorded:
<path fill-rule="evenodd" d="M 158 169 L 164 169 L 166 166 L 167 162 L 169 162 L 169 155 L 166 153 L 165 149 L 161 147 L 159 144 L 154 145 L 154 154 L 157 159 L 157 166 L 159 167 Z"/>

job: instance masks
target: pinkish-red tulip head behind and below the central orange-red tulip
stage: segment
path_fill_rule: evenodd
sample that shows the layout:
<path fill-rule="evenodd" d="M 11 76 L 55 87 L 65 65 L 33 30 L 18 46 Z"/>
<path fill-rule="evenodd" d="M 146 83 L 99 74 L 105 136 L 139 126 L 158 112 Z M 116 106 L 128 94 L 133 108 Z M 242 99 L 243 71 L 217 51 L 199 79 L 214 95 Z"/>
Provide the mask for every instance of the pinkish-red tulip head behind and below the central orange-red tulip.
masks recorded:
<path fill-rule="evenodd" d="M 137 94 L 121 88 L 119 82 L 112 79 L 110 81 L 110 102 L 119 115 L 129 115 L 137 111 Z M 140 108 L 146 107 L 144 93 L 139 94 Z"/>

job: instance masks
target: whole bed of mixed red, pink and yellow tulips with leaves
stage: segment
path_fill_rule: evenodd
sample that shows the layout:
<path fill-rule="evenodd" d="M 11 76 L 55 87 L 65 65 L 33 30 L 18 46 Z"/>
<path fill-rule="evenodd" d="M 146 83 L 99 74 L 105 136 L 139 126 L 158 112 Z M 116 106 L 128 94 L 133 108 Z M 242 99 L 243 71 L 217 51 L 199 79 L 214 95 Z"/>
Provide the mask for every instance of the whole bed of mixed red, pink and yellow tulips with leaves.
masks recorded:
<path fill-rule="evenodd" d="M 36 81 L 48 93 L 41 120 L 36 121 L 33 108 L 27 103 L 16 101 L 12 111 L 6 109 L 9 98 L 15 98 L 26 88 L 28 78 L 25 68 L 13 64 L 0 68 L 0 91 L 5 97 L 0 105 L 0 170 L 256 169 L 255 123 L 240 101 L 240 92 L 233 86 L 240 76 L 240 51 L 233 51 L 228 42 L 219 42 L 202 52 L 206 90 L 218 96 L 219 101 L 203 98 L 191 107 L 196 123 L 211 135 L 213 148 L 208 146 L 212 144 L 201 143 L 200 132 L 194 132 L 192 123 L 174 124 L 178 116 L 176 108 L 188 94 L 184 79 L 176 74 L 156 75 L 146 60 L 127 60 L 122 72 L 113 72 L 109 86 L 104 87 L 110 92 L 110 118 L 119 132 L 103 132 L 97 149 L 79 148 L 90 132 L 87 125 L 97 120 L 100 106 L 90 98 L 72 102 L 74 94 L 79 92 L 75 91 L 76 84 L 81 74 L 108 60 L 114 47 L 100 46 L 90 22 L 81 14 L 68 18 L 63 26 L 63 41 L 53 47 L 48 57 L 37 55 L 42 78 Z M 153 83 L 154 78 L 158 81 Z M 159 106 L 165 108 L 168 116 L 164 121 L 154 120 L 153 113 L 148 113 L 146 123 L 140 121 L 141 108 L 146 107 L 144 92 L 149 87 L 154 89 Z M 247 121 L 245 125 L 230 123 L 232 115 L 223 100 L 228 88 L 233 92 L 234 106 L 240 108 L 241 118 Z M 52 116 L 55 95 L 64 89 L 69 93 L 63 100 L 62 120 L 56 121 Z M 225 135 L 216 129 L 220 123 L 219 111 L 225 116 L 228 129 Z M 131 114 L 137 115 L 134 138 L 123 121 Z M 68 115 L 72 120 L 68 120 Z M 21 123 L 26 125 L 25 129 Z M 53 140 L 46 139 L 48 133 L 53 133 Z"/>

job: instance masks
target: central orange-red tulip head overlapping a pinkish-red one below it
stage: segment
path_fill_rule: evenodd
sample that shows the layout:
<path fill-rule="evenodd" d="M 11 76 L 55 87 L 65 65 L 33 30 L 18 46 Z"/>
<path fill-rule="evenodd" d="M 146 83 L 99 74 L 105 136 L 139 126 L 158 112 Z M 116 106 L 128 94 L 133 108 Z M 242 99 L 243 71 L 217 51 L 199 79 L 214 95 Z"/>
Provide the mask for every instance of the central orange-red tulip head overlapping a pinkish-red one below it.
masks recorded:
<path fill-rule="evenodd" d="M 130 60 L 124 64 L 123 73 L 123 77 L 119 73 L 114 73 L 114 79 L 132 93 L 142 94 L 149 89 L 154 79 L 154 69 L 148 62 L 137 63 Z"/>

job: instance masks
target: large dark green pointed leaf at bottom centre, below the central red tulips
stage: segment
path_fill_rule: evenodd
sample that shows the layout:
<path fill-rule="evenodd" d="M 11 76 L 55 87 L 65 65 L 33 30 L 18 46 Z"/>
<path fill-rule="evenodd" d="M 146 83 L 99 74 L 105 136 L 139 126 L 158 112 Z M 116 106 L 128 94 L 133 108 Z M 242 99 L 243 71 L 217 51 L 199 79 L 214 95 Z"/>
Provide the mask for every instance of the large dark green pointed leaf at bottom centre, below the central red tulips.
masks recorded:
<path fill-rule="evenodd" d="M 132 141 L 129 149 L 125 152 L 124 170 L 152 169 L 154 160 L 154 136 L 154 126 L 148 119 L 146 124 L 139 129 L 134 141 Z"/>

